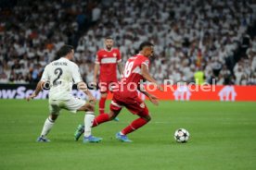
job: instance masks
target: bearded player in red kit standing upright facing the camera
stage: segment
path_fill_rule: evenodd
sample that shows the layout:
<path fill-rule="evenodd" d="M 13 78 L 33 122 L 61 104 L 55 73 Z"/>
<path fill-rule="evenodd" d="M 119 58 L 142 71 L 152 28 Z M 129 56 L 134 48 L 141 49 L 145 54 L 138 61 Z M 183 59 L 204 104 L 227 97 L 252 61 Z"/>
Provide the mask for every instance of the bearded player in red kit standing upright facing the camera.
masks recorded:
<path fill-rule="evenodd" d="M 117 67 L 122 74 L 122 59 L 119 49 L 113 48 L 114 41 L 112 38 L 105 38 L 105 48 L 96 53 L 96 65 L 94 74 L 94 85 L 99 71 L 99 89 L 100 100 L 98 103 L 99 114 L 104 114 L 105 103 L 111 83 L 117 83 Z"/>

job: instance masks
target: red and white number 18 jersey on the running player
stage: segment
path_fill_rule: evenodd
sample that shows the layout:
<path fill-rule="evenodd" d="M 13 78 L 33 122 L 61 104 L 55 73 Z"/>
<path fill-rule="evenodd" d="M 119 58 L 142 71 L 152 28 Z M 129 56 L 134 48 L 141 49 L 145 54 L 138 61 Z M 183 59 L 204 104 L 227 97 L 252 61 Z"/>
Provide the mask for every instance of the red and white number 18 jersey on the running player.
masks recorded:
<path fill-rule="evenodd" d="M 123 78 L 121 79 L 121 89 L 119 91 L 126 93 L 137 93 L 140 82 L 144 79 L 141 75 L 141 66 L 149 67 L 149 59 L 144 55 L 134 55 L 128 59 L 123 70 Z"/>

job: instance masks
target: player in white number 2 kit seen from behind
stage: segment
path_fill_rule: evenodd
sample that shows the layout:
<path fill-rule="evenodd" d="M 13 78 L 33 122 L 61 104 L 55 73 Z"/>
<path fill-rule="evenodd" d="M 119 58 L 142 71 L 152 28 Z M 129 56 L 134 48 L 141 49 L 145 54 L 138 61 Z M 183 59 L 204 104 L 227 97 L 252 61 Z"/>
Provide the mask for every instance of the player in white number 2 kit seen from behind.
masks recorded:
<path fill-rule="evenodd" d="M 40 137 L 37 141 L 48 142 L 46 135 L 53 127 L 58 118 L 61 109 L 67 109 L 72 113 L 77 111 L 85 111 L 84 116 L 84 138 L 83 142 L 98 142 L 101 138 L 96 138 L 91 134 L 92 124 L 95 118 L 95 104 L 96 99 L 92 93 L 88 91 L 86 84 L 83 82 L 79 67 L 71 62 L 74 57 L 73 47 L 70 45 L 63 45 L 58 51 L 58 60 L 55 60 L 45 67 L 45 71 L 41 80 L 38 82 L 35 91 L 27 98 L 28 101 L 38 95 L 38 93 L 45 87 L 45 83 L 49 83 L 49 109 L 50 115 L 45 120 L 45 125 Z M 79 90 L 83 91 L 88 96 L 89 103 L 75 98 L 71 94 L 72 84 L 77 84 Z"/>

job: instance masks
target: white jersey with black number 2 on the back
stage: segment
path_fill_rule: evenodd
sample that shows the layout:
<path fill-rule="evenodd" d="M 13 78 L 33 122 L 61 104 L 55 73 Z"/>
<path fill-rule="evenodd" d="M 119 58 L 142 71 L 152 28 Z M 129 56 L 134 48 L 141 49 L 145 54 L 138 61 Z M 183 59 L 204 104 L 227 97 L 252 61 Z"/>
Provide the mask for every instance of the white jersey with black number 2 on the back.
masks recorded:
<path fill-rule="evenodd" d="M 70 100 L 73 83 L 83 81 L 79 67 L 64 57 L 48 64 L 41 80 L 50 84 L 50 100 Z"/>

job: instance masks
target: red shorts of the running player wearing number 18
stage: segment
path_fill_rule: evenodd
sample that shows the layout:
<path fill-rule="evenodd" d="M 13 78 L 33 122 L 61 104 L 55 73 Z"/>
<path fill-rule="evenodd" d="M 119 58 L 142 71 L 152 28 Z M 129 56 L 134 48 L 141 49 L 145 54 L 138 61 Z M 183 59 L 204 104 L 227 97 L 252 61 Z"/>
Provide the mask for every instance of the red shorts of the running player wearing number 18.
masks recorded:
<path fill-rule="evenodd" d="M 138 95 L 126 97 L 122 93 L 115 92 L 110 103 L 110 110 L 120 112 L 122 107 L 126 107 L 134 115 L 147 116 L 149 115 L 147 105 L 138 97 Z"/>

